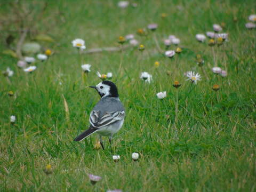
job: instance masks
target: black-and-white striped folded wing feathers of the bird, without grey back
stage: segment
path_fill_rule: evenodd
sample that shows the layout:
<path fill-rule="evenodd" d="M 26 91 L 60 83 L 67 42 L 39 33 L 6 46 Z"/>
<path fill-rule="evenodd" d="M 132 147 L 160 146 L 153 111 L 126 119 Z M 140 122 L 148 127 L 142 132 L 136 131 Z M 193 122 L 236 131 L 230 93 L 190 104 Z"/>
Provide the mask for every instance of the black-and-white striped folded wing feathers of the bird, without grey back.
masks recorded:
<path fill-rule="evenodd" d="M 124 111 L 106 112 L 100 117 L 100 111 L 93 110 L 90 114 L 90 123 L 94 128 L 100 129 L 101 127 L 108 126 L 124 118 Z"/>

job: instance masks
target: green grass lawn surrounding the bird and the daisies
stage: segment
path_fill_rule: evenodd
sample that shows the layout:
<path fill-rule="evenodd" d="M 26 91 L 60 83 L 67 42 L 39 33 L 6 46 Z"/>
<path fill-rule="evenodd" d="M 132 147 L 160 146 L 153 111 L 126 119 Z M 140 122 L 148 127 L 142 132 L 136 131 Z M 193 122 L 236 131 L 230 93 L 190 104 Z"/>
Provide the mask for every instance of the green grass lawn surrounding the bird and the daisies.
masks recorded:
<path fill-rule="evenodd" d="M 39 10 L 35 2 L 23 3 Z M 2 191 L 256 190 L 256 36 L 255 29 L 244 26 L 247 17 L 256 13 L 254 1 L 147 0 L 124 10 L 117 8 L 117 1 L 48 3 L 43 19 L 35 23 L 36 30 L 26 41 L 37 33 L 50 35 L 54 43 L 40 43 L 55 52 L 52 57 L 36 62 L 34 73 L 25 74 L 17 67 L 17 59 L 0 55 L 0 70 L 8 66 L 14 70 L 10 84 L 0 77 Z M 10 5 L 3 3 L 0 14 L 11 17 L 9 10 Z M 161 13 L 168 16 L 163 19 Z M 120 35 L 135 34 L 151 22 L 158 23 L 155 33 L 162 49 L 162 39 L 168 35 L 181 39 L 180 55 L 170 60 L 157 52 L 151 33 L 136 35 L 146 46 L 143 58 L 136 48 L 125 50 L 119 71 L 120 52 L 84 54 L 82 59 L 92 65 L 92 72 L 82 81 L 77 50 L 70 43 L 74 38 L 85 39 L 87 49 L 119 46 Z M 218 66 L 228 71 L 225 78 L 211 71 L 211 47 L 195 39 L 197 33 L 212 31 L 213 23 L 221 22 L 226 23 L 229 41 L 214 50 Z M 9 33 L 3 31 L 1 52 L 7 49 L 4 39 Z M 17 39 L 12 46 L 15 43 Z M 196 54 L 203 55 L 209 80 L 196 65 Z M 159 68 L 154 67 L 155 61 L 160 62 Z M 175 62 L 178 70 L 168 76 L 166 72 L 173 73 Z M 106 150 L 93 149 L 96 134 L 82 142 L 73 141 L 89 126 L 90 111 L 99 100 L 87 87 L 100 82 L 97 70 L 113 73 L 112 81 L 126 109 L 124 126 L 113 139 L 114 154 L 121 156 L 118 163 L 113 162 L 106 138 Z M 202 75 L 191 91 L 191 83 L 183 76 L 188 70 Z M 142 71 L 152 74 L 154 81 L 142 82 Z M 174 80 L 181 83 L 176 123 Z M 220 85 L 218 92 L 212 90 L 214 84 Z M 9 97 L 9 91 L 15 97 Z M 163 100 L 156 97 L 160 91 L 167 91 Z M 17 117 L 14 125 L 11 115 Z M 140 154 L 138 162 L 132 161 L 133 152 Z M 52 165 L 52 174 L 44 173 L 47 164 Z M 102 180 L 92 186 L 87 173 L 100 175 Z"/>

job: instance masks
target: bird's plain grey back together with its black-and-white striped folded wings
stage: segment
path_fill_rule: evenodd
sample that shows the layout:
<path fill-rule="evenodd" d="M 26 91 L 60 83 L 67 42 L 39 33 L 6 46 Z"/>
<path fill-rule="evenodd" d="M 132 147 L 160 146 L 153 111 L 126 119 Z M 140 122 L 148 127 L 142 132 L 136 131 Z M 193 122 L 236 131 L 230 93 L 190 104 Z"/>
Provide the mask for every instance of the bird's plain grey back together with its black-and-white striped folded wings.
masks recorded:
<path fill-rule="evenodd" d="M 124 118 L 125 111 L 119 99 L 103 98 L 93 108 L 90 123 L 94 128 L 108 126 Z"/>

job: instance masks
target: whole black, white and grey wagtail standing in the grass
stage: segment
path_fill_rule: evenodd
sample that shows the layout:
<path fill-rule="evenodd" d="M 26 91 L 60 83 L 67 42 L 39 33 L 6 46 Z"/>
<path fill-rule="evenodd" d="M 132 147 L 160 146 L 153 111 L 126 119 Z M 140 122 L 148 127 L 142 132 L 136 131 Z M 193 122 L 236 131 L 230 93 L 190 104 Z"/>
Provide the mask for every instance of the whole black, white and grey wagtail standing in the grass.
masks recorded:
<path fill-rule="evenodd" d="M 124 106 L 119 100 L 117 87 L 113 82 L 103 81 L 96 86 L 90 86 L 100 94 L 100 101 L 94 106 L 90 114 L 90 127 L 79 134 L 74 141 L 81 141 L 97 132 L 100 136 L 100 145 L 102 149 L 102 136 L 109 138 L 110 148 L 111 139 L 124 123 Z M 112 150 L 112 149 L 111 149 Z"/>

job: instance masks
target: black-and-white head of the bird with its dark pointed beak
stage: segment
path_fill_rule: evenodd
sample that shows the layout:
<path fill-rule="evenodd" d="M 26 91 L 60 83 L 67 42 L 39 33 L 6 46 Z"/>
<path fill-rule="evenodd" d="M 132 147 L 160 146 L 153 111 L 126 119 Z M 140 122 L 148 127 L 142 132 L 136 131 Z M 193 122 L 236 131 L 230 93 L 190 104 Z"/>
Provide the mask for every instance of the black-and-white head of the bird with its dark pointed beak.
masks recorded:
<path fill-rule="evenodd" d="M 98 91 L 101 98 L 105 97 L 119 97 L 117 87 L 115 83 L 110 81 L 100 82 L 96 86 L 90 86 L 91 88 Z"/>

